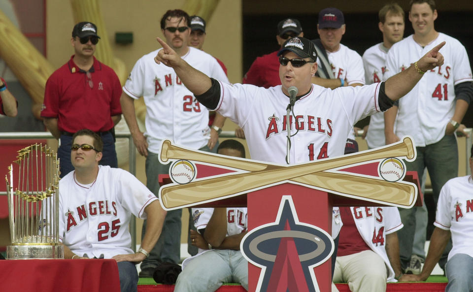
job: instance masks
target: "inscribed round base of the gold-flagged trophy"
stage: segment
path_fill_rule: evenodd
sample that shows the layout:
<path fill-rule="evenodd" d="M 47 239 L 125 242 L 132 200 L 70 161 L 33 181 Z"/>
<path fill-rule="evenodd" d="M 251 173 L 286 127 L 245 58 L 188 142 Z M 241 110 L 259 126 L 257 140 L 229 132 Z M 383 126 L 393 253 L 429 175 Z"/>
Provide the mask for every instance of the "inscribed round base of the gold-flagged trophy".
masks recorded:
<path fill-rule="evenodd" d="M 50 260 L 64 259 L 64 246 L 52 245 L 9 245 L 6 247 L 7 260 Z"/>

